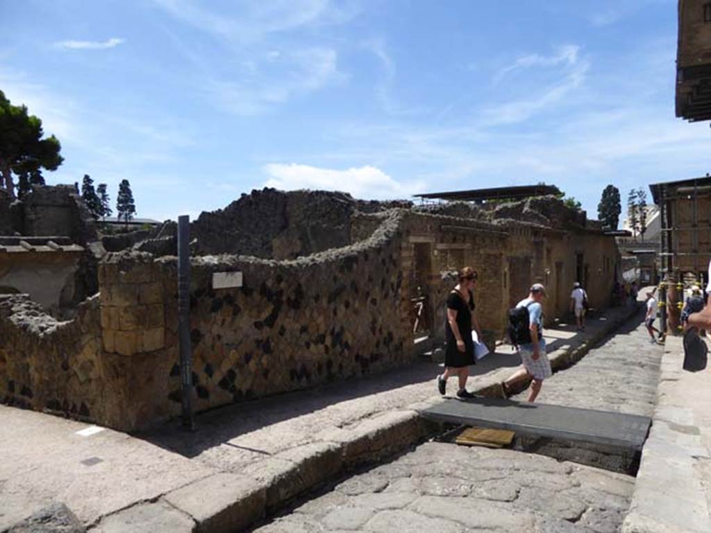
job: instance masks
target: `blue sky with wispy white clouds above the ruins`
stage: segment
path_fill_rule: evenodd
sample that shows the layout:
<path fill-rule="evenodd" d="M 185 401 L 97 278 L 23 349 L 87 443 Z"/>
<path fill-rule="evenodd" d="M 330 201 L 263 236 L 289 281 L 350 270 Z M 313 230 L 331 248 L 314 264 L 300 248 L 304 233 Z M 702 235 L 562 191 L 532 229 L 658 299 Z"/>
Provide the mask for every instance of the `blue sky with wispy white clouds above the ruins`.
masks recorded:
<path fill-rule="evenodd" d="M 137 216 L 265 185 L 362 198 L 704 175 L 674 117 L 675 0 L 0 0 L 0 90 L 62 143 L 49 183 Z"/>

